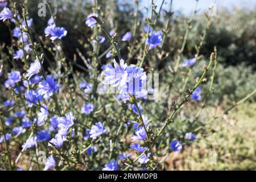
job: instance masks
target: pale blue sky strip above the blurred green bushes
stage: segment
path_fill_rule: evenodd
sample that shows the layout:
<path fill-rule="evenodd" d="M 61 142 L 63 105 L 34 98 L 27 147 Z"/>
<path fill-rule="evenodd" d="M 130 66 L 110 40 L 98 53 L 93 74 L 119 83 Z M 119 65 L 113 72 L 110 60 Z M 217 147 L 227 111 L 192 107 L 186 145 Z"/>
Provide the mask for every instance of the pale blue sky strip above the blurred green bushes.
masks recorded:
<path fill-rule="evenodd" d="M 164 9 L 168 10 L 167 7 L 170 6 L 171 0 L 165 0 Z M 232 7 L 246 7 L 251 9 L 256 6 L 255 0 L 199 0 L 197 9 L 200 11 L 208 11 L 208 7 L 210 3 L 216 2 L 217 9 L 222 7 L 226 9 L 232 9 Z M 155 5 L 160 7 L 162 0 L 154 0 Z M 144 7 L 150 7 L 151 0 L 141 0 L 141 9 Z M 173 0 L 173 10 L 174 11 L 182 11 L 185 15 L 191 14 L 196 4 L 196 0 Z M 145 13 L 146 10 L 144 9 Z"/>

